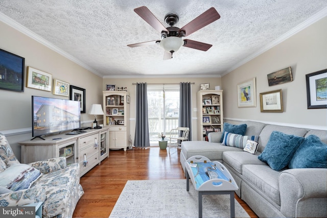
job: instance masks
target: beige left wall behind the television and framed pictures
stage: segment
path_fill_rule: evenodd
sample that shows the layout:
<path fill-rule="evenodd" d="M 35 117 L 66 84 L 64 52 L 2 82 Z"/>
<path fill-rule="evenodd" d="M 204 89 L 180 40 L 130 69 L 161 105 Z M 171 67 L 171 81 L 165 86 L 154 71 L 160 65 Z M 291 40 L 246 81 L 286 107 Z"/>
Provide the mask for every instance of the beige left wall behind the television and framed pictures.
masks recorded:
<path fill-rule="evenodd" d="M 59 79 L 86 89 L 86 112 L 92 103 L 102 103 L 102 78 L 86 70 L 71 60 L 50 50 L 34 39 L 0 22 L 0 48 L 25 58 L 25 78 L 27 66 L 52 74 L 53 79 Z M 26 82 L 26 79 L 25 79 Z M 69 97 L 53 95 L 52 92 L 32 88 L 24 88 L 24 92 L 0 89 L 0 132 L 31 131 L 32 112 L 31 96 L 46 96 L 50 98 L 69 99 Z M 94 116 L 82 114 L 82 123 L 91 123 Z M 28 140 L 32 134 L 9 137 L 14 153 L 20 157 L 20 147 L 15 142 Z"/>

